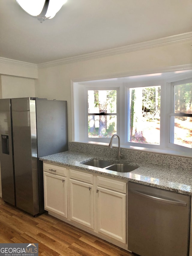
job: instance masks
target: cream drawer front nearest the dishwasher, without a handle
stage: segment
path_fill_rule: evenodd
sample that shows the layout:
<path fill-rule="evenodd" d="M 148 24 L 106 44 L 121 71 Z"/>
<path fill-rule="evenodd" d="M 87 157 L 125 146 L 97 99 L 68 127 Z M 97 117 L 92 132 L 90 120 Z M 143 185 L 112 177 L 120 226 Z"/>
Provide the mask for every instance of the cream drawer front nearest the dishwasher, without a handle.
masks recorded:
<path fill-rule="evenodd" d="M 117 192 L 127 193 L 127 183 L 114 179 L 97 176 L 97 185 L 101 188 L 108 188 Z"/>

